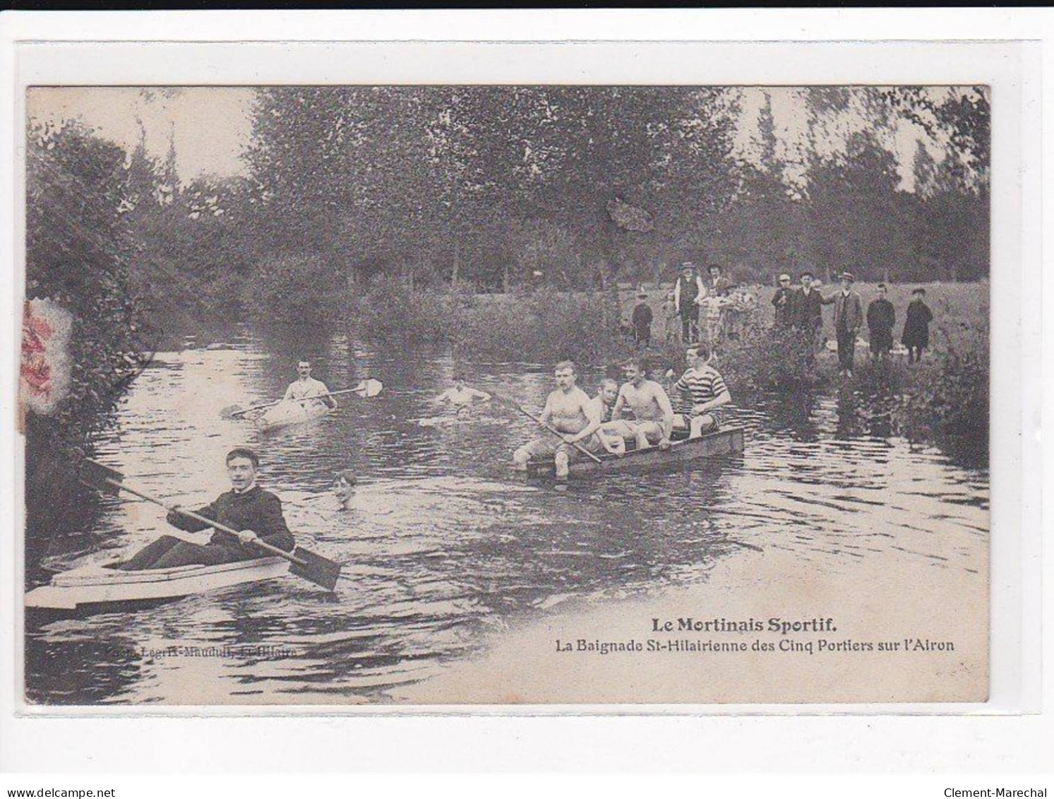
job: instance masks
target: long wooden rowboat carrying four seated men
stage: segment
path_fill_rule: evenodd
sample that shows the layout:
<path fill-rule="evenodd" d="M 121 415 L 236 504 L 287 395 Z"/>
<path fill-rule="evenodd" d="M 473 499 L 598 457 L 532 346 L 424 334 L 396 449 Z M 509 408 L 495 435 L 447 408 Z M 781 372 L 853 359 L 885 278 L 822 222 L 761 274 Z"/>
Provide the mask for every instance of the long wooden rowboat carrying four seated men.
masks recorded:
<path fill-rule="evenodd" d="M 600 463 L 578 455 L 571 461 L 569 475 L 581 478 L 599 473 L 676 468 L 707 457 L 742 452 L 743 444 L 743 428 L 726 427 L 698 439 L 675 441 L 668 449 L 648 447 L 627 450 L 624 455 L 604 453 L 600 455 Z M 532 459 L 527 463 L 528 476 L 549 476 L 554 471 L 551 457 Z"/>

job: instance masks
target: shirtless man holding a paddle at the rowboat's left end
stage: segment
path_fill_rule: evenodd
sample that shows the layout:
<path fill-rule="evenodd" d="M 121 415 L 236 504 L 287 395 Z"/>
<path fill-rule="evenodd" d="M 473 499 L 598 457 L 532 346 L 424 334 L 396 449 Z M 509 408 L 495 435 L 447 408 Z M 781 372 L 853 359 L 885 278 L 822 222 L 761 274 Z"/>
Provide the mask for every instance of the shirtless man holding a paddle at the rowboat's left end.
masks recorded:
<path fill-rule="evenodd" d="M 518 469 L 526 469 L 531 457 L 552 457 L 557 466 L 557 479 L 567 478 L 568 464 L 572 457 L 581 457 L 582 453 L 574 444 L 589 452 L 600 452 L 603 449 L 597 431 L 601 426 L 602 412 L 589 395 L 574 385 L 578 379 L 574 372 L 574 362 L 561 360 L 553 369 L 557 390 L 550 392 L 542 411 L 542 422 L 563 433 L 563 441 L 554 434 L 546 433 L 524 445 L 512 454 L 512 462 Z"/>

